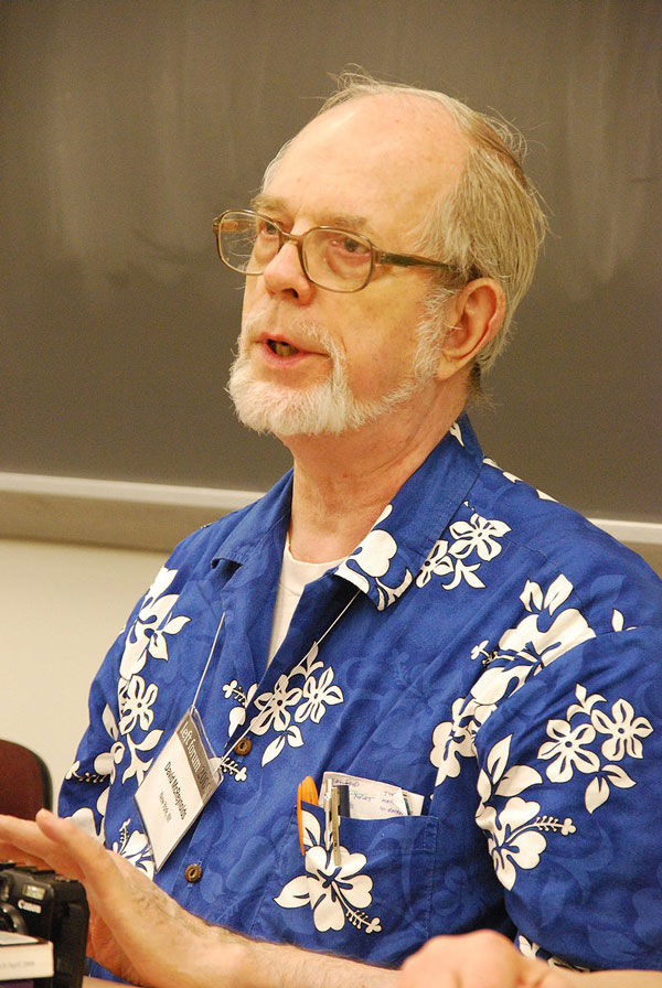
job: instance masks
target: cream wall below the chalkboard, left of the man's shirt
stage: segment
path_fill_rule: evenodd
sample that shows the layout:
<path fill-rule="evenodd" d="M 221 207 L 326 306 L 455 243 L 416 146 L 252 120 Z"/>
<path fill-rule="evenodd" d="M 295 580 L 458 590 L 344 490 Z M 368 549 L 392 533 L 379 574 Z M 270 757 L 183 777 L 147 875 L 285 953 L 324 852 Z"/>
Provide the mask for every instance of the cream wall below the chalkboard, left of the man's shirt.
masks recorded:
<path fill-rule="evenodd" d="M 46 762 L 57 795 L 89 683 L 163 554 L 0 539 L 0 737 Z"/>

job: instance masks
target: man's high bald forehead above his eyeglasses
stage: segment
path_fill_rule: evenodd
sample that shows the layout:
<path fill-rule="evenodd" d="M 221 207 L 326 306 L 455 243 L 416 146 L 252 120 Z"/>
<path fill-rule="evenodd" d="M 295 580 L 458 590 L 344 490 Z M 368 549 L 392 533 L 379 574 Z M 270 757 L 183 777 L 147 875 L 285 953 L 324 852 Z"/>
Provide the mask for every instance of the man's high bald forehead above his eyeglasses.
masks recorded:
<path fill-rule="evenodd" d="M 357 97 L 316 117 L 290 142 L 265 192 L 292 211 L 386 214 L 412 225 L 457 183 L 467 140 L 448 110 L 425 97 Z M 313 218 L 319 219 L 316 215 Z"/>

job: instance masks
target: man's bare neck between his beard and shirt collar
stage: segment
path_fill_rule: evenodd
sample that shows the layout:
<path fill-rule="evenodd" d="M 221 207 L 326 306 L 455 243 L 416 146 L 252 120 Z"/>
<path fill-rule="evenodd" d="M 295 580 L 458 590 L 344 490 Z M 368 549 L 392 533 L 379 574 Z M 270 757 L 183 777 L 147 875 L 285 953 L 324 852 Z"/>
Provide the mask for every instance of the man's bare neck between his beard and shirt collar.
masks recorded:
<path fill-rule="evenodd" d="M 296 436 L 290 549 L 322 562 L 350 555 L 462 410 L 433 400 L 419 415 L 388 415 L 341 436 Z"/>

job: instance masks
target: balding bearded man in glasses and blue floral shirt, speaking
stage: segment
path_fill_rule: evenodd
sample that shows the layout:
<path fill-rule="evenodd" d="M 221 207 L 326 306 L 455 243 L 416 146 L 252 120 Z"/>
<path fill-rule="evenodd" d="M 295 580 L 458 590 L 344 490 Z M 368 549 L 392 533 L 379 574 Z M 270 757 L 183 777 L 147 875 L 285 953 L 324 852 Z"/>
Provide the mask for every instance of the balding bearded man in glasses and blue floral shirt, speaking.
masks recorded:
<path fill-rule="evenodd" d="M 516 158 L 467 107 L 363 80 L 252 206 L 215 222 L 246 277 L 229 391 L 293 470 L 137 605 L 61 814 L 235 945 L 393 967 L 488 931 L 488 969 L 503 937 L 662 966 L 660 581 L 463 414 L 544 228 Z M 377 977 L 264 949 L 273 984 Z"/>

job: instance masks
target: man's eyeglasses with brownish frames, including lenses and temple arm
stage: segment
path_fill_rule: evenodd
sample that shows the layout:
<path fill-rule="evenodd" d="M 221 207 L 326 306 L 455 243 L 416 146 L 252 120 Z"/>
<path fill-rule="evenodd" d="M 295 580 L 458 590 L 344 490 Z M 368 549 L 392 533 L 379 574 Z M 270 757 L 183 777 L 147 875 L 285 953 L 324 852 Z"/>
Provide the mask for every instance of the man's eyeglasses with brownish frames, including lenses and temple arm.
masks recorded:
<path fill-rule="evenodd" d="M 306 277 L 329 291 L 360 291 L 376 267 L 442 268 L 459 273 L 451 265 L 416 254 L 388 254 L 361 234 L 313 226 L 297 236 L 282 229 L 269 216 L 252 210 L 226 210 L 214 219 L 218 256 L 241 275 L 261 275 L 285 244 L 295 244 Z"/>

